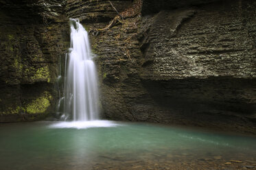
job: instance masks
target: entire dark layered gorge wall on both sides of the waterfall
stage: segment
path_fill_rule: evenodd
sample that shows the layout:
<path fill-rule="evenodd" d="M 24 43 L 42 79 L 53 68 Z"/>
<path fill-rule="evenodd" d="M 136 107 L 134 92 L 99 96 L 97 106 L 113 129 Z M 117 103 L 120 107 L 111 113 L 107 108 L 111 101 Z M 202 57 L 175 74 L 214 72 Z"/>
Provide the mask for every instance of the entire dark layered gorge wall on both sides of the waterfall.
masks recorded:
<path fill-rule="evenodd" d="M 1 91 L 1 120 L 5 113 L 14 115 L 16 106 L 29 114 L 30 104 L 47 96 L 50 107 L 43 112 L 53 112 L 58 57 L 68 47 L 69 35 L 63 33 L 69 32 L 67 19 L 78 18 L 97 54 L 102 117 L 256 134 L 255 1 L 112 0 L 111 5 L 69 0 L 45 3 L 49 8 L 24 2 L 26 9 L 34 9 L 29 14 L 20 15 L 20 8 L 8 4 L 1 8 L 0 28 L 17 28 L 13 40 L 1 34 L 6 44 L 1 43 L 2 58 L 9 60 L 3 58 L 0 66 L 6 89 Z M 54 11 L 46 15 L 47 24 L 45 11 Z M 34 40 L 38 52 L 15 46 L 23 47 L 24 40 Z M 45 67 L 49 73 L 38 76 Z M 30 68 L 34 71 L 26 72 Z"/>

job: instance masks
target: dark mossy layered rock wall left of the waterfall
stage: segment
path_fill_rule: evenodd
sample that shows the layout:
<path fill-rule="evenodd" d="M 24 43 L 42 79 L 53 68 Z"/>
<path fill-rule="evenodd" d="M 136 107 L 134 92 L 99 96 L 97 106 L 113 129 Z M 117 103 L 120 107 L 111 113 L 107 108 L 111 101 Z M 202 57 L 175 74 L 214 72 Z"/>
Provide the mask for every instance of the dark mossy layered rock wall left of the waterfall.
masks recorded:
<path fill-rule="evenodd" d="M 0 122 L 55 112 L 58 60 L 69 47 L 65 1 L 0 1 Z"/>

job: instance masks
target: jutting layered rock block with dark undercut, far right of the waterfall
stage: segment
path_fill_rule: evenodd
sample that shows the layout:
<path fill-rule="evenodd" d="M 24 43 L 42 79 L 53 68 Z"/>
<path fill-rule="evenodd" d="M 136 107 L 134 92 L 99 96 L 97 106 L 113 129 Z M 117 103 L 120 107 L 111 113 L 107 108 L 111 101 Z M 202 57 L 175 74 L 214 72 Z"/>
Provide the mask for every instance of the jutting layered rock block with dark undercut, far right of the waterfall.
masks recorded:
<path fill-rule="evenodd" d="M 255 132 L 255 8 L 222 1 L 142 19 L 141 81 L 170 121 Z"/>

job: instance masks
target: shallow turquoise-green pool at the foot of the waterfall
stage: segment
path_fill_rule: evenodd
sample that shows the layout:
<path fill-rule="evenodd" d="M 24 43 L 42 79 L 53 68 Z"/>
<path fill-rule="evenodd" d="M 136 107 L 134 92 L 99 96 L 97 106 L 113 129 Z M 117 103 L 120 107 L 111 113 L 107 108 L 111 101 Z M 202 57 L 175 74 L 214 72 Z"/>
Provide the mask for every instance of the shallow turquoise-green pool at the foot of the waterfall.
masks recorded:
<path fill-rule="evenodd" d="M 65 127 L 65 128 L 64 128 Z M 0 125 L 0 169 L 256 169 L 256 138 L 146 123 Z"/>

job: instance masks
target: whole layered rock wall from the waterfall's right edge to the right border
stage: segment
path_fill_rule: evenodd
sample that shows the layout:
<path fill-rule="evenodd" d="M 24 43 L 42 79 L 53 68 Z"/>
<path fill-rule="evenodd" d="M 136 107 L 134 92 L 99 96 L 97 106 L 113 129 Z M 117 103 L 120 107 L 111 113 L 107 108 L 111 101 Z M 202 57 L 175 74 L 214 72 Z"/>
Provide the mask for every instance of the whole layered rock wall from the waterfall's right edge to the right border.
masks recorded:
<path fill-rule="evenodd" d="M 108 1 L 89 2 L 67 8 L 88 30 L 117 16 Z M 104 117 L 255 134 L 254 1 L 111 2 L 123 19 L 91 34 Z"/>

